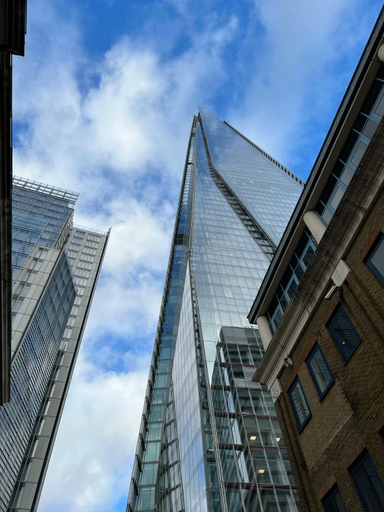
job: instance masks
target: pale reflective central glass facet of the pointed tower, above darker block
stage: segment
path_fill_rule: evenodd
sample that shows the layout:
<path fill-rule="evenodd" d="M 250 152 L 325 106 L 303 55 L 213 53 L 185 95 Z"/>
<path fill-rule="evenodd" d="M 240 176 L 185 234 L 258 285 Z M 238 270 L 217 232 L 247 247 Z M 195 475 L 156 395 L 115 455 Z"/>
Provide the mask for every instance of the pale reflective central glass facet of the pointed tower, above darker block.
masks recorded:
<path fill-rule="evenodd" d="M 212 371 L 221 327 L 250 327 L 247 313 L 269 259 L 213 181 L 200 123 L 193 220 L 193 275 L 204 351 Z"/>

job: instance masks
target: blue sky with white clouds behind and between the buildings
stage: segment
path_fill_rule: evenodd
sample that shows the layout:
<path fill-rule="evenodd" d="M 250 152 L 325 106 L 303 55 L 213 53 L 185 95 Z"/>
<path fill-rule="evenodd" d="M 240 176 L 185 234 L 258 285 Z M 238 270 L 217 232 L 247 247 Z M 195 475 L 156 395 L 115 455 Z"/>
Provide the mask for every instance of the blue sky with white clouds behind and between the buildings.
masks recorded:
<path fill-rule="evenodd" d="M 34 0 L 14 173 L 112 227 L 39 512 L 124 512 L 193 114 L 306 179 L 375 0 Z"/>

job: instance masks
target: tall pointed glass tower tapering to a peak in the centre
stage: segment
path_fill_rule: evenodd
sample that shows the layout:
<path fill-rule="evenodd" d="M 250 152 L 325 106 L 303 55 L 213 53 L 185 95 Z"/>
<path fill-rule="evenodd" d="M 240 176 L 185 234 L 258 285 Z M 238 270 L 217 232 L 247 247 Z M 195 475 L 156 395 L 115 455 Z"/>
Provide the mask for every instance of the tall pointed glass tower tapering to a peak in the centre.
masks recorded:
<path fill-rule="evenodd" d="M 157 326 L 127 511 L 296 512 L 247 321 L 304 183 L 200 107 Z"/>

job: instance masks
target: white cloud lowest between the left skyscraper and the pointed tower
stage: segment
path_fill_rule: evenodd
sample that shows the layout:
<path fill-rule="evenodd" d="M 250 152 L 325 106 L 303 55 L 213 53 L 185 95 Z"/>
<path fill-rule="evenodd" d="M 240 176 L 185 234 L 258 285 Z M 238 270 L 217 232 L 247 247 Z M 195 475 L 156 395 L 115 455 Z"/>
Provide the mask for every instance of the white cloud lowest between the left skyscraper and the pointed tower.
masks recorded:
<path fill-rule="evenodd" d="M 40 512 L 112 511 L 116 497 L 128 493 L 148 364 L 103 373 L 78 358 Z"/>

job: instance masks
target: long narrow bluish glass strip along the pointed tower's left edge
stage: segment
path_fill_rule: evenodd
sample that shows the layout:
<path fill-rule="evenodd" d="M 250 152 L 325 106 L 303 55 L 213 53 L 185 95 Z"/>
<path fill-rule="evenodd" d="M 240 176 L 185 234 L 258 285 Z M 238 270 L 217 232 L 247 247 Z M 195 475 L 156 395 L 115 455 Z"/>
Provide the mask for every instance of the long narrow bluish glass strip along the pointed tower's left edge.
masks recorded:
<path fill-rule="evenodd" d="M 193 160 L 195 146 L 194 139 L 195 136 L 192 132 L 189 149 L 189 159 L 191 161 Z M 149 484 L 143 484 L 139 464 L 134 466 L 132 472 L 134 485 L 131 485 L 128 497 L 128 503 L 134 510 L 144 510 L 148 506 L 154 509 L 155 503 L 159 511 L 168 512 L 171 506 L 175 511 L 182 509 L 182 489 L 180 487 L 180 466 L 177 464 L 179 455 L 177 453 L 176 430 L 173 419 L 173 400 L 168 398 L 168 394 L 171 393 L 170 371 L 179 330 L 183 293 L 187 292 L 191 296 L 189 288 L 184 290 L 186 288 L 184 287 L 184 281 L 188 261 L 192 196 L 193 164 L 190 163 L 186 165 L 184 183 L 180 194 L 175 238 L 171 249 L 164 299 L 157 328 L 157 339 L 150 369 L 152 392 L 148 393 L 146 398 L 148 402 L 144 405 L 143 422 L 141 423 L 143 445 L 139 446 L 137 450 L 141 468 L 147 463 L 157 464 L 160 459 L 162 464 L 159 466 L 161 470 L 157 470 L 156 474 L 157 487 L 148 487 Z M 164 401 L 164 405 L 160 403 L 160 400 Z M 164 447 L 162 452 L 160 452 L 160 441 L 162 441 Z M 156 488 L 157 493 L 155 492 Z"/>

